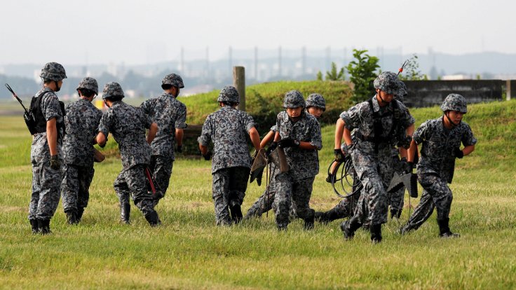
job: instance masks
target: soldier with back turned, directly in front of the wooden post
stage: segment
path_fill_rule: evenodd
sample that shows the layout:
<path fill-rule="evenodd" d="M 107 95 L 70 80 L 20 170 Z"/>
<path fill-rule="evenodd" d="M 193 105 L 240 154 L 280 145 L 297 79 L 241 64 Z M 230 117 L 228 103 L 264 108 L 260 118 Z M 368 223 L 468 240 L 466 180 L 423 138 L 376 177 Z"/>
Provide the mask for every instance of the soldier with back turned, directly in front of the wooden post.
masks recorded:
<path fill-rule="evenodd" d="M 229 226 L 242 219 L 240 206 L 251 168 L 246 134 L 249 134 L 256 151 L 260 148 L 260 137 L 252 117 L 236 109 L 240 102 L 236 88 L 222 88 L 217 102 L 221 109 L 208 115 L 198 142 L 205 160 L 210 160 L 212 156 L 208 151 L 208 144 L 210 141 L 214 143 L 212 197 L 215 203 L 215 220 L 217 226 Z"/>

